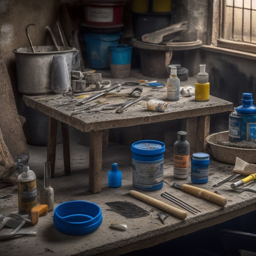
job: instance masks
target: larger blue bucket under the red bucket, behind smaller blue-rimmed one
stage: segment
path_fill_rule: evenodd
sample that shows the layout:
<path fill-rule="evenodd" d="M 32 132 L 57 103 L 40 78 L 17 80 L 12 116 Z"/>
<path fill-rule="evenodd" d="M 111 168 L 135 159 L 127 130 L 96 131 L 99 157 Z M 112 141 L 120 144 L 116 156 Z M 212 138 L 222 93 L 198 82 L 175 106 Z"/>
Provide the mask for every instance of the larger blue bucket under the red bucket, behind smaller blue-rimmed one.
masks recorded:
<path fill-rule="evenodd" d="M 85 33 L 87 60 L 92 69 L 109 69 L 109 47 L 118 45 L 121 32 L 117 33 Z"/>

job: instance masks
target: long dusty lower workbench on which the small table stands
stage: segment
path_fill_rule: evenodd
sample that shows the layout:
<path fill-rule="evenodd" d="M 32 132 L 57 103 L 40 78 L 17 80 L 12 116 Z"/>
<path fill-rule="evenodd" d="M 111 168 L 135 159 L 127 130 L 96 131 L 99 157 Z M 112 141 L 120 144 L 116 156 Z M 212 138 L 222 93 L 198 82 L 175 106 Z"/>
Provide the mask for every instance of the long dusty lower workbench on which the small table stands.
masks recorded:
<path fill-rule="evenodd" d="M 171 255 L 176 256 L 177 254 L 173 253 L 174 248 L 172 246 L 175 244 L 176 238 L 181 237 L 182 239 L 186 234 L 192 234 L 197 230 L 214 226 L 232 218 L 244 215 L 247 212 L 256 210 L 255 193 L 244 191 L 240 194 L 230 188 L 230 184 L 238 181 L 240 179 L 239 177 L 222 186 L 212 187 L 215 183 L 224 180 L 232 174 L 233 165 L 216 162 L 211 158 L 209 164 L 209 180 L 207 183 L 193 184 L 190 181 L 190 177 L 185 180 L 177 180 L 173 177 L 172 147 L 166 146 L 166 151 L 164 153 L 163 187 L 156 191 L 140 190 L 140 192 L 179 209 L 183 209 L 161 196 L 162 193 L 168 192 L 197 208 L 201 212 L 194 215 L 185 210 L 187 212 L 187 217 L 184 220 L 167 214 L 168 217 L 164 220 L 164 223 L 162 223 L 158 219 L 158 214 L 166 214 L 163 210 L 129 195 L 129 191 L 135 189 L 132 184 L 132 154 L 130 146 L 110 143 L 108 150 L 103 151 L 102 192 L 98 194 L 90 193 L 88 191 L 89 184 L 86 182 L 89 178 L 89 161 L 87 159 L 87 156 L 89 155 L 89 147 L 77 143 L 72 137 L 70 146 L 73 149 L 71 151 L 71 163 L 73 163 L 74 166 L 71 175 L 62 175 L 63 164 L 61 161 L 57 161 L 55 170 L 56 175 L 51 179 L 51 186 L 54 189 L 54 207 L 56 208 L 57 205 L 72 200 L 93 202 L 102 210 L 102 224 L 92 233 L 82 236 L 69 236 L 59 232 L 55 228 L 53 223 L 53 211 L 51 211 L 48 212 L 46 216 L 40 217 L 36 225 L 23 227 L 24 230 L 37 231 L 36 237 L 17 237 L 7 241 L 1 241 L 1 256 L 118 256 L 123 253 L 148 248 L 167 241 L 170 245 L 165 247 L 165 249 L 167 249 L 167 252 L 171 253 Z M 47 148 L 45 146 L 29 145 L 29 151 L 29 166 L 34 170 L 37 177 L 37 198 L 39 203 L 40 188 L 44 184 L 44 156 L 46 156 Z M 61 159 L 61 144 L 57 144 L 56 153 L 57 159 Z M 111 188 L 108 186 L 108 171 L 114 161 L 117 161 L 118 167 L 122 172 L 122 186 L 118 188 Z M 185 193 L 179 189 L 175 189 L 170 186 L 174 182 L 179 184 L 187 183 L 215 192 L 218 195 L 226 197 L 227 204 L 224 207 L 221 207 L 202 198 Z M 13 197 L 0 200 L 0 215 L 17 211 L 17 186 L 2 188 L 0 193 L 0 195 L 13 195 Z M 137 218 L 126 218 L 120 214 L 121 207 L 117 209 L 117 211 L 111 210 L 111 207 L 107 204 L 110 202 L 133 203 L 143 210 L 146 210 L 148 215 L 144 217 L 136 215 L 135 217 Z M 126 224 L 127 230 L 121 231 L 110 228 L 111 223 L 116 222 Z M 247 225 L 255 226 L 255 222 L 249 222 Z M 232 226 L 232 229 L 238 228 L 239 226 L 237 225 Z M 243 226 L 242 230 L 246 230 L 246 227 Z M 202 244 L 202 240 L 207 240 L 212 246 L 216 247 L 218 241 L 217 239 L 211 239 L 211 235 L 212 233 L 208 232 L 205 236 L 191 237 L 190 243 L 194 243 L 194 245 L 197 243 L 200 245 Z M 192 247 L 186 247 L 187 243 L 184 242 L 182 245 L 183 246 L 180 249 L 187 248 L 189 249 L 189 253 L 180 253 L 178 255 L 198 255 L 193 251 Z M 159 253 L 164 253 L 164 250 L 159 250 Z M 140 253 L 140 255 L 145 254 L 146 253 L 143 252 Z M 152 255 L 153 253 L 148 254 Z"/>

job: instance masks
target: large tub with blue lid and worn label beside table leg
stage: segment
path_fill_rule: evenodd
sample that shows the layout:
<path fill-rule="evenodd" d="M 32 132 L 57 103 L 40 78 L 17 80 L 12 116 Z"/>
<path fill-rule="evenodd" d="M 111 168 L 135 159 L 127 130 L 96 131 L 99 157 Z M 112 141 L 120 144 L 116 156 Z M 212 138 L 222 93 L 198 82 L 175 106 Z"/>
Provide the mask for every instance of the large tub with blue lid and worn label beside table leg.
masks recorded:
<path fill-rule="evenodd" d="M 165 144 L 156 140 L 140 140 L 131 146 L 133 186 L 142 190 L 158 190 L 163 186 Z"/>

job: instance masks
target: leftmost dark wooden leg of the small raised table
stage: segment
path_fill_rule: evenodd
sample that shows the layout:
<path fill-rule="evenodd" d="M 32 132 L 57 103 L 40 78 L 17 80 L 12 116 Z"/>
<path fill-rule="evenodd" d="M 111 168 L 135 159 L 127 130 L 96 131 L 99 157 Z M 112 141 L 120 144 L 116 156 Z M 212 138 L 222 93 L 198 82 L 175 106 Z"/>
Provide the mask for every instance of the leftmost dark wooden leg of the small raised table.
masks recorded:
<path fill-rule="evenodd" d="M 58 121 L 53 117 L 49 117 L 48 125 L 48 143 L 47 143 L 47 161 L 51 165 L 51 177 L 55 171 L 56 143 L 57 143 L 57 126 Z"/>

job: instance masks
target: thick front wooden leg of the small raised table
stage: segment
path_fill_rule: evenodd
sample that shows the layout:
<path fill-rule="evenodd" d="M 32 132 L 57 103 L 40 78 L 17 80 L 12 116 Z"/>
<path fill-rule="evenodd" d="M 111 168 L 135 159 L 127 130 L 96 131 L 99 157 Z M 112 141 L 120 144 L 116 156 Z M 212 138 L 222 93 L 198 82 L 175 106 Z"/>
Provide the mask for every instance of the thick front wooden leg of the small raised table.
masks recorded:
<path fill-rule="evenodd" d="M 100 193 L 102 172 L 102 131 L 90 132 L 89 190 Z"/>

